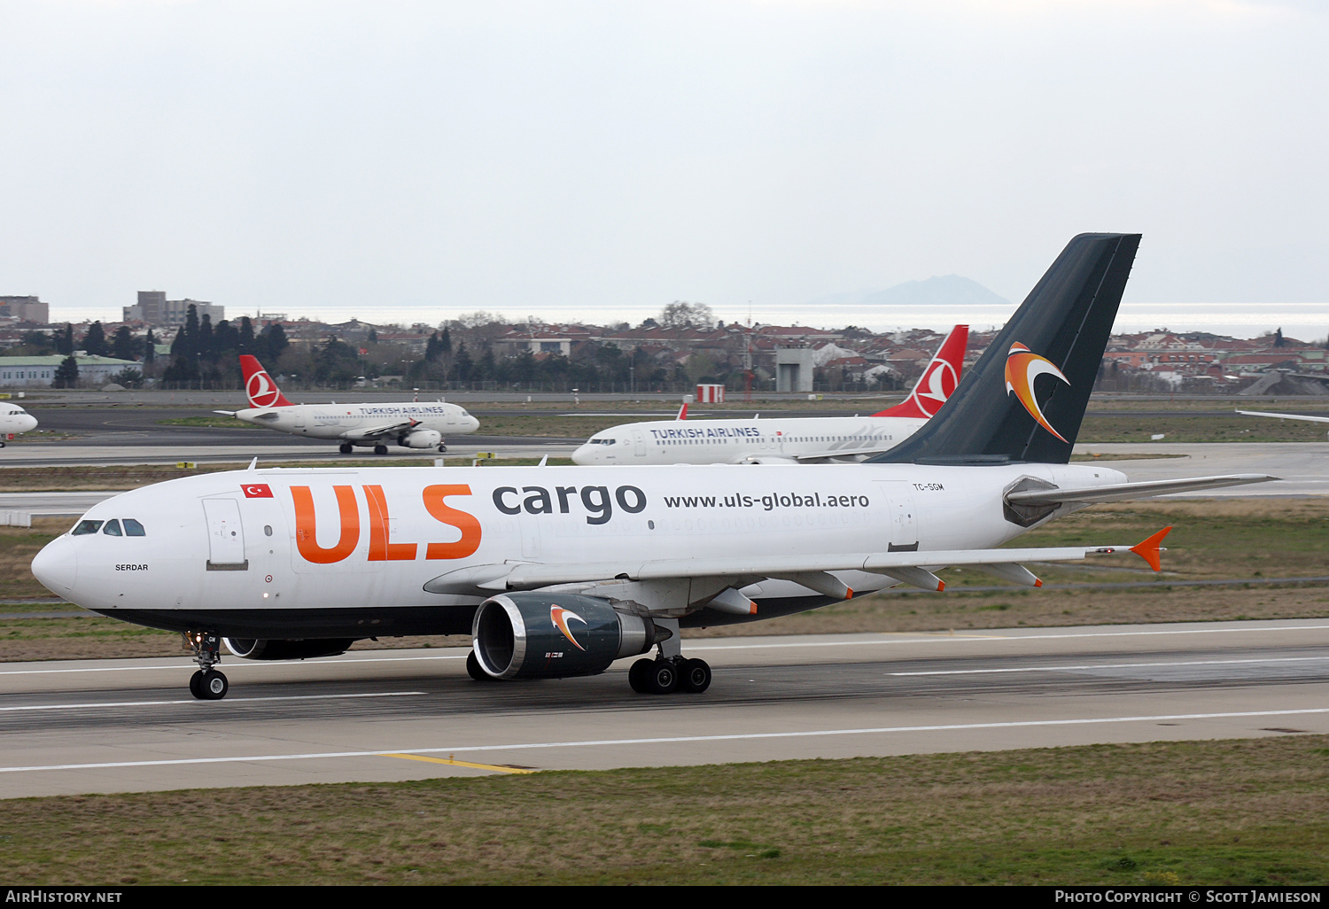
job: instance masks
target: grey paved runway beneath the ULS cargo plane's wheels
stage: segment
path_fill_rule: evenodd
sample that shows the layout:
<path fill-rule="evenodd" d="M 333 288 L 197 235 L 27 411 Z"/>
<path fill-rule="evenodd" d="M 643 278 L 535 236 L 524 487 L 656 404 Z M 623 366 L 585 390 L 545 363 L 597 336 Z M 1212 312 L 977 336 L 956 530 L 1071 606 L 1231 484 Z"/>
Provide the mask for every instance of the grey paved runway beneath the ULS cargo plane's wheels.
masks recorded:
<path fill-rule="evenodd" d="M 687 642 L 702 695 L 631 660 L 476 683 L 464 650 L 0 668 L 0 797 L 1329 734 L 1329 621 Z"/>

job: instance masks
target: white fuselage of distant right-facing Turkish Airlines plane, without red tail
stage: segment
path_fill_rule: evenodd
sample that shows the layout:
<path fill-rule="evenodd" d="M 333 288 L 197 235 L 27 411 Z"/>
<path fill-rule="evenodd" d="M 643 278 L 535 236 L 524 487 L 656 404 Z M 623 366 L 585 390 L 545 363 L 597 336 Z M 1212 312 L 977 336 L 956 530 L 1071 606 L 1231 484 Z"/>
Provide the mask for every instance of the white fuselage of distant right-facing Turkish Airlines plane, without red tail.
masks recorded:
<path fill-rule="evenodd" d="M 364 433 L 393 424 L 401 424 L 404 433 L 412 420 L 416 421 L 415 429 L 435 429 L 444 439 L 472 433 L 480 427 L 480 421 L 465 408 L 443 401 L 254 407 L 237 411 L 235 419 L 295 436 L 346 440 L 361 439 Z M 384 441 L 392 441 L 392 436 Z"/>

